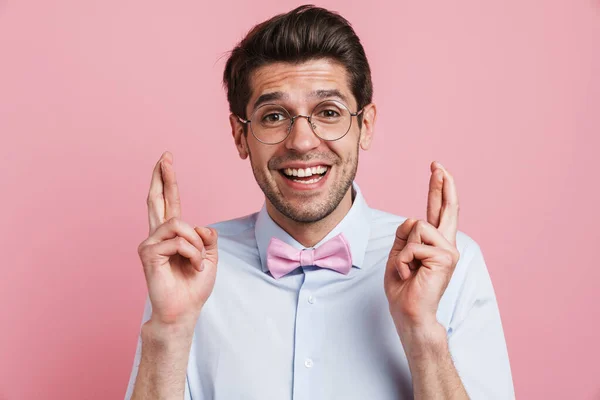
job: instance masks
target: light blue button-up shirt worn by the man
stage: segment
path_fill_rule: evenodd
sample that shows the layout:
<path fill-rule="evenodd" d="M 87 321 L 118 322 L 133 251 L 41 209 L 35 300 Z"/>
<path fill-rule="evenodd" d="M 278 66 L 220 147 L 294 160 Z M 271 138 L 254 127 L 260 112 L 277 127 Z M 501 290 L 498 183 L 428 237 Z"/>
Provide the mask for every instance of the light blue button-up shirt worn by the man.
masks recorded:
<path fill-rule="evenodd" d="M 272 237 L 304 247 L 265 206 L 212 225 L 219 232 L 213 292 L 197 321 L 185 398 L 193 400 L 412 399 L 408 361 L 383 289 L 395 232 L 406 218 L 369 208 L 356 183 L 344 219 L 320 243 L 344 233 L 348 275 L 314 266 L 274 279 L 266 265 Z M 513 399 L 498 305 L 477 243 L 458 232 L 460 260 L 442 296 L 438 321 L 472 399 Z M 151 315 L 146 300 L 142 323 Z M 141 356 L 138 339 L 126 399 Z"/>

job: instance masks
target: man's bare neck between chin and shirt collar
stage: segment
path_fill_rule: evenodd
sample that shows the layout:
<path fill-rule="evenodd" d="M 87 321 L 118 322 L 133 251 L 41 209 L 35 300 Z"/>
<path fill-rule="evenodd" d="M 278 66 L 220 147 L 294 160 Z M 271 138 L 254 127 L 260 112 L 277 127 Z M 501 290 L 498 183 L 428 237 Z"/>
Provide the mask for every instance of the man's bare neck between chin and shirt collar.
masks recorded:
<path fill-rule="evenodd" d="M 340 223 L 348 214 L 354 200 L 354 189 L 350 187 L 344 198 L 335 210 L 325 218 L 311 223 L 301 223 L 291 220 L 280 213 L 270 201 L 267 200 L 267 212 L 277 225 L 293 237 L 304 247 L 313 247 L 319 243 L 329 232 Z"/>

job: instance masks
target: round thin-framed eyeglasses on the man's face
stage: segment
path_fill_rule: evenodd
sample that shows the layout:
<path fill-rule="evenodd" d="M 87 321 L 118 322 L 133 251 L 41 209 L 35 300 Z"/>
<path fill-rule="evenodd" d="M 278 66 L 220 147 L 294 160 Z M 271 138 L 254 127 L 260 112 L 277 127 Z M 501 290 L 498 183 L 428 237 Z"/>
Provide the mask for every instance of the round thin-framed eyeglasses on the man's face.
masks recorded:
<path fill-rule="evenodd" d="M 292 117 L 282 106 L 264 104 L 246 120 L 237 116 L 239 121 L 250 125 L 252 135 L 261 143 L 277 144 L 283 142 L 292 131 L 297 118 L 306 118 L 312 131 L 319 138 L 327 141 L 339 140 L 346 136 L 352 126 L 352 117 L 363 112 L 364 108 L 352 113 L 343 103 L 336 100 L 325 100 L 315 106 L 310 115 Z"/>

